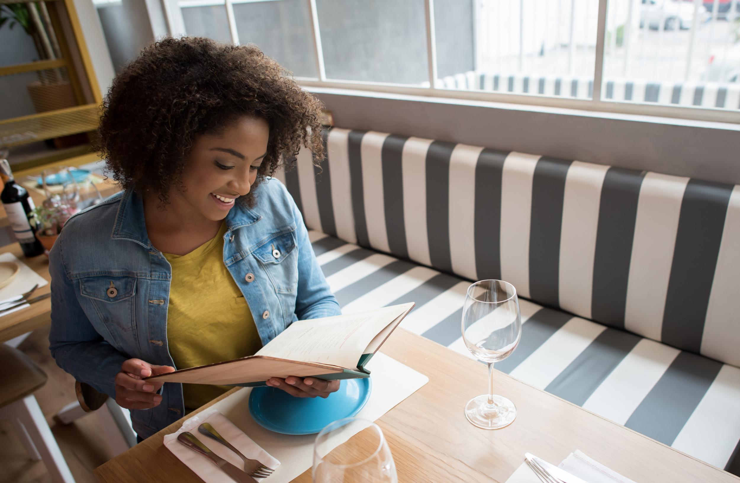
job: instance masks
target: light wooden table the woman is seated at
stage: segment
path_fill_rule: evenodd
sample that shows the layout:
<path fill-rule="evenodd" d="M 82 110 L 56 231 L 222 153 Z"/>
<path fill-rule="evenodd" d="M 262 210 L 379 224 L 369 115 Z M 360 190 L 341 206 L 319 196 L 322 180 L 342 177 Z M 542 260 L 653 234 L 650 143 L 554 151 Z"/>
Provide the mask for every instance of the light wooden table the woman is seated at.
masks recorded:
<path fill-rule="evenodd" d="M 579 449 L 637 483 L 733 482 L 740 479 L 610 422 L 504 373 L 496 392 L 517 404 L 502 430 L 480 430 L 462 408 L 487 390 L 485 365 L 399 329 L 383 352 L 429 377 L 429 382 L 377 420 L 391 447 L 399 482 L 505 482 L 529 451 L 559 464 Z M 235 388 L 192 416 L 242 388 Z M 101 482 L 201 482 L 162 444 L 170 424 L 95 470 Z M 269 479 L 267 480 L 269 482 Z M 306 470 L 295 482 L 311 482 Z"/>

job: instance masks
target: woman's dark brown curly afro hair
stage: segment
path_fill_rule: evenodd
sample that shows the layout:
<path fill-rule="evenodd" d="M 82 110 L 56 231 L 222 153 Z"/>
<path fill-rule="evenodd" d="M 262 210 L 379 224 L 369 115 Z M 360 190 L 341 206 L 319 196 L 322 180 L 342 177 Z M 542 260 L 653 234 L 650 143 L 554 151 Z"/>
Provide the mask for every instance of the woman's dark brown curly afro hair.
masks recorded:
<path fill-rule="evenodd" d="M 116 76 L 101 104 L 96 149 L 124 189 L 158 193 L 182 185 L 195 136 L 218 133 L 238 116 L 269 124 L 259 183 L 281 164 L 291 167 L 303 145 L 323 159 L 323 105 L 254 44 L 163 39 Z M 240 201 L 254 204 L 254 189 Z"/>

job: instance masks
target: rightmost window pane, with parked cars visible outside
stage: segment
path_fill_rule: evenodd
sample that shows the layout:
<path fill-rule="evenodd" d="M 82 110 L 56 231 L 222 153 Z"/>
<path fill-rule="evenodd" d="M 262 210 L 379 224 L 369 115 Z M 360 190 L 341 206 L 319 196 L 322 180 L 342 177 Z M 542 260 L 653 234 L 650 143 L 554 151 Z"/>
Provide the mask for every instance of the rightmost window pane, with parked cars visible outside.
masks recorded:
<path fill-rule="evenodd" d="M 738 0 L 611 0 L 602 99 L 738 110 Z"/>

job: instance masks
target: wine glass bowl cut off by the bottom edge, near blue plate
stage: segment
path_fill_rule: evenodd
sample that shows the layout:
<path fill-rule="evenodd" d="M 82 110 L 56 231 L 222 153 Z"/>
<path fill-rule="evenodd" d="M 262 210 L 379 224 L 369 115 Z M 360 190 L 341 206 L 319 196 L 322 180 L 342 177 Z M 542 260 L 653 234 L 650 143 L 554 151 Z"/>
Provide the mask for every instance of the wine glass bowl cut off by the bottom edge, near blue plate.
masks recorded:
<path fill-rule="evenodd" d="M 397 483 L 396 464 L 377 424 L 360 418 L 330 423 L 314 442 L 314 483 Z"/>

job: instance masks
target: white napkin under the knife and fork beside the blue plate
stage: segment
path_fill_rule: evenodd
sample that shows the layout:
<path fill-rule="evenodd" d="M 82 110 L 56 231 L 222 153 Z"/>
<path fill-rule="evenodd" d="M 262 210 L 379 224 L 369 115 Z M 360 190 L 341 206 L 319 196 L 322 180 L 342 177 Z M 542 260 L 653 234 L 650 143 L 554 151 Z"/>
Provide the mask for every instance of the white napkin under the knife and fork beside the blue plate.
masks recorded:
<path fill-rule="evenodd" d="M 223 483 L 233 482 L 226 473 L 223 473 L 215 464 L 206 459 L 205 456 L 200 453 L 195 453 L 189 447 L 186 447 L 181 442 L 178 442 L 178 434 L 184 431 L 189 431 L 193 436 L 198 438 L 203 444 L 205 444 L 209 450 L 212 450 L 218 456 L 225 459 L 227 462 L 235 464 L 235 466 L 241 468 L 244 465 L 242 459 L 229 450 L 223 444 L 211 439 L 198 432 L 198 426 L 201 423 L 208 422 L 212 424 L 214 429 L 223 436 L 226 441 L 232 444 L 233 447 L 240 450 L 240 452 L 247 458 L 257 459 L 266 467 L 275 470 L 280 466 L 280 462 L 277 459 L 269 455 L 265 450 L 258 446 L 257 443 L 249 439 L 249 436 L 243 433 L 238 427 L 236 427 L 229 419 L 226 419 L 223 414 L 219 413 L 217 409 L 211 408 L 198 413 L 192 418 L 187 419 L 182 427 L 172 434 L 164 436 L 164 445 L 177 456 L 177 458 L 186 464 L 196 475 L 200 476 L 203 482 L 206 483 Z M 257 481 L 262 480 L 261 478 L 255 478 Z"/>

